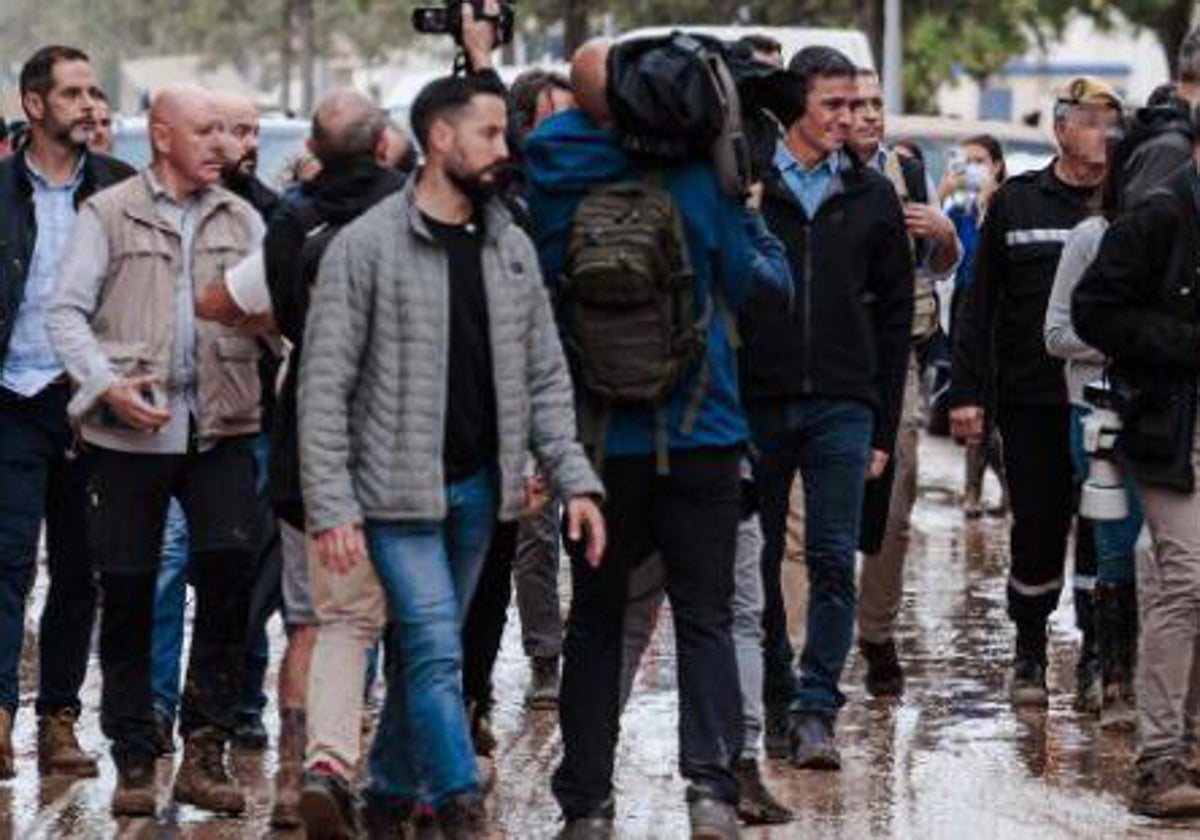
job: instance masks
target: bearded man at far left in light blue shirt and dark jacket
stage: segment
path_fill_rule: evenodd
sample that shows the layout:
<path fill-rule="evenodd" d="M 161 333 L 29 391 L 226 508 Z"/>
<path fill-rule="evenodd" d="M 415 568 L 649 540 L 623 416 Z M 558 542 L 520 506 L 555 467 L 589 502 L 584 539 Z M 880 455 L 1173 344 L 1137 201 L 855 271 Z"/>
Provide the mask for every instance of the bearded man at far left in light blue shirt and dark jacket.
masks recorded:
<path fill-rule="evenodd" d="M 88 151 L 96 127 L 88 55 L 44 47 L 20 72 L 28 145 L 0 163 L 0 779 L 14 773 L 12 719 L 42 522 L 50 586 L 41 624 L 38 762 L 94 776 L 74 727 L 96 613 L 84 542 L 83 460 L 71 389 L 46 335 L 46 307 L 76 209 L 133 169 Z"/>

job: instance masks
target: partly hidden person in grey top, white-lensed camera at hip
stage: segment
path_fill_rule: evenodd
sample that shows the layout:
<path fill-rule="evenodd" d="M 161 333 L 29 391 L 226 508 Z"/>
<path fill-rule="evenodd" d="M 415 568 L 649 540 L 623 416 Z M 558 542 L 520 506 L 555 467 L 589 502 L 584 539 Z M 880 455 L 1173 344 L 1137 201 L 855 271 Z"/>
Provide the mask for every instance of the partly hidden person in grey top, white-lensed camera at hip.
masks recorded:
<path fill-rule="evenodd" d="M 1114 148 L 1110 142 L 1110 154 Z M 1072 456 L 1076 479 L 1086 479 L 1080 516 L 1091 520 L 1096 548 L 1092 620 L 1100 664 L 1098 696 L 1088 698 L 1088 708 L 1099 713 L 1103 728 L 1132 728 L 1134 724 L 1133 668 L 1138 646 L 1134 550 L 1142 515 L 1136 492 L 1126 486 L 1115 467 L 1112 443 L 1120 431 L 1120 418 L 1112 412 L 1112 395 L 1106 383 L 1092 386 L 1104 379 L 1108 359 L 1075 331 L 1070 296 L 1096 259 L 1104 232 L 1116 216 L 1120 180 L 1120 173 L 1110 168 L 1099 214 L 1080 222 L 1067 236 L 1045 319 L 1046 352 L 1067 362 Z M 1079 538 L 1085 539 L 1086 534 L 1080 533 Z"/>

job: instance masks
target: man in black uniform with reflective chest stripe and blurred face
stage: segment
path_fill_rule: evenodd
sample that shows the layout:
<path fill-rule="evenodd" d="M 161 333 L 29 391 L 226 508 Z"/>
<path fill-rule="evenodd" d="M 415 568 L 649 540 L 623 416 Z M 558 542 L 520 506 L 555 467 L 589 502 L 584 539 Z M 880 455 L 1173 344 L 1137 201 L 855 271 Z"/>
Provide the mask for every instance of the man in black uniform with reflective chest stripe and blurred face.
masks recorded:
<path fill-rule="evenodd" d="M 1049 702 L 1046 619 L 1062 592 L 1074 509 L 1070 408 L 1062 362 L 1045 352 L 1043 324 L 1063 241 L 1094 211 L 1106 170 L 1106 136 L 1120 116 L 1121 100 L 1105 83 L 1078 78 L 1067 86 L 1055 103 L 1058 156 L 1044 169 L 1009 179 L 992 199 L 980 232 L 976 283 L 955 334 L 954 434 L 980 439 L 985 410 L 995 410 L 1004 437 L 1013 504 L 1008 614 L 1016 624 L 1009 684 L 1014 706 Z M 1079 583 L 1076 578 L 1076 600 L 1086 602 Z M 1081 625 L 1080 674 L 1087 677 L 1094 670 L 1087 655 L 1092 634 Z"/>

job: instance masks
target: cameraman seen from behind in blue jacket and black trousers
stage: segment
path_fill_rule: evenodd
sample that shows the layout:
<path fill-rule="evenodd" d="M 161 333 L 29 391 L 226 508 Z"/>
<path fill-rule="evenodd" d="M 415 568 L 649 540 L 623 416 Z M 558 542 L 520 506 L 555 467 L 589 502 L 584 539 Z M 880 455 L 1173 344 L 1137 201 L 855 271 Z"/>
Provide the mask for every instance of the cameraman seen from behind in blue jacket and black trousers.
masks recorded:
<path fill-rule="evenodd" d="M 583 199 L 596 187 L 648 178 L 662 185 L 682 215 L 697 304 L 719 298 L 719 308 L 736 308 L 760 277 L 782 283 L 787 269 L 778 242 L 761 220 L 721 194 L 712 167 L 689 163 L 652 174 L 625 154 L 605 96 L 607 52 L 607 44 L 593 42 L 576 53 L 571 82 L 581 109 L 552 116 L 527 140 L 529 209 L 552 290 L 559 290 Z M 680 770 L 691 784 L 694 836 L 737 836 L 733 764 L 742 746 L 742 702 L 731 624 L 742 504 L 738 464 L 748 427 L 727 323 L 722 317 L 707 323 L 704 359 L 670 394 L 661 422 L 652 407 L 614 406 L 602 431 L 590 440 L 584 436 L 604 461 L 605 515 L 612 530 L 599 566 L 572 552 L 559 701 L 564 756 L 553 780 L 568 838 L 612 833 L 629 576 L 655 551 L 666 566 L 676 619 Z M 570 344 L 570 326 L 564 331 L 564 344 Z M 708 384 L 697 390 L 701 370 L 707 370 Z M 595 408 L 584 391 L 576 389 L 581 424 Z"/>

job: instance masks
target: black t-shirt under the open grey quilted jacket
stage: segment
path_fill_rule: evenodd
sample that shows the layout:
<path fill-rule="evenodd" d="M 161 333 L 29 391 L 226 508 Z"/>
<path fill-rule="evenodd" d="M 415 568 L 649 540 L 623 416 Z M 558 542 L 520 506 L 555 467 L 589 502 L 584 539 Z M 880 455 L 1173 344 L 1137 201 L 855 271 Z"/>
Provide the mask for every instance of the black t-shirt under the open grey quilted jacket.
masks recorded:
<path fill-rule="evenodd" d="M 478 222 L 445 224 L 425 216 L 450 264 L 450 367 L 445 442 L 446 481 L 461 481 L 496 460 L 496 386 L 484 289 L 484 233 Z"/>

